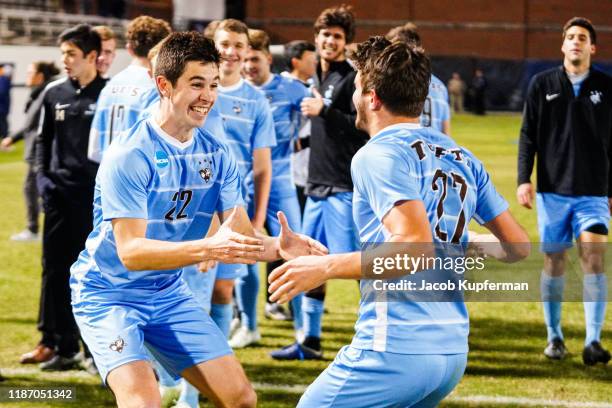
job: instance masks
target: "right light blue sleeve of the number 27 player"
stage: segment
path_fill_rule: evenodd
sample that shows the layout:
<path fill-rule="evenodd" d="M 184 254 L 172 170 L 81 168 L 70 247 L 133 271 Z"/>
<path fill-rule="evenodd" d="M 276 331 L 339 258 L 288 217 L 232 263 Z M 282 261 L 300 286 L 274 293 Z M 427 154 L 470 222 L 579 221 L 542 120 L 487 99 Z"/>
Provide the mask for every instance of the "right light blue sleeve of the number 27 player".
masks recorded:
<path fill-rule="evenodd" d="M 472 166 L 478 190 L 474 219 L 479 224 L 484 224 L 506 211 L 508 202 L 495 189 L 483 164 L 472 158 Z"/>

